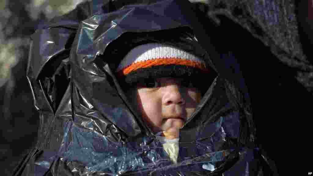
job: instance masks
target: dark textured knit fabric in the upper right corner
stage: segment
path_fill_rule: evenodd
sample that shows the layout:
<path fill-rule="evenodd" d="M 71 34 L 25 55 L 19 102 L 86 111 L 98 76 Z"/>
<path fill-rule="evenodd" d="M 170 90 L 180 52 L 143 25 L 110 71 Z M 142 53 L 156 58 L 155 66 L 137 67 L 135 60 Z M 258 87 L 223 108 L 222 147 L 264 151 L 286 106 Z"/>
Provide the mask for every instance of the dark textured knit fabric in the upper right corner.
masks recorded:
<path fill-rule="evenodd" d="M 219 0 L 207 1 L 210 16 L 227 16 L 268 46 L 281 63 L 293 68 L 294 77 L 308 91 L 313 88 L 313 59 L 309 34 L 310 1 Z M 312 29 L 312 28 L 311 28 Z M 231 32 L 231 28 L 230 28 Z"/>

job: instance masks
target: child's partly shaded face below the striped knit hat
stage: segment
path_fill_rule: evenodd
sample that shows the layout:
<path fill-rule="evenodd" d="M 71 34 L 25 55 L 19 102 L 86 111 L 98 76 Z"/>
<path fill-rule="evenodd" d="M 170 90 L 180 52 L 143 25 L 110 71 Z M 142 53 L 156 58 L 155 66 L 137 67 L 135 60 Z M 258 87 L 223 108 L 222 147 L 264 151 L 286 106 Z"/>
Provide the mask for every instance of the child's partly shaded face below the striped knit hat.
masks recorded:
<path fill-rule="evenodd" d="M 153 132 L 178 133 L 201 99 L 200 91 L 183 79 L 158 78 L 136 87 L 137 108 Z"/>

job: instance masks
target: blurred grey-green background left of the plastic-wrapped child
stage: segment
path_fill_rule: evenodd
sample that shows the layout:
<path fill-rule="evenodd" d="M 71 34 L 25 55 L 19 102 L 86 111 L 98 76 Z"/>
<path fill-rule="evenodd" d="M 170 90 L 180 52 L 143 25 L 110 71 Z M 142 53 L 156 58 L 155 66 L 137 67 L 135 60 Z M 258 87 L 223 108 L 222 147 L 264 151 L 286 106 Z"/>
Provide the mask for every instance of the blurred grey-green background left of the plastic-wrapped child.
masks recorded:
<path fill-rule="evenodd" d="M 29 36 L 82 1 L 0 1 L 0 175 L 12 175 L 37 138 L 39 116 L 26 78 Z"/>

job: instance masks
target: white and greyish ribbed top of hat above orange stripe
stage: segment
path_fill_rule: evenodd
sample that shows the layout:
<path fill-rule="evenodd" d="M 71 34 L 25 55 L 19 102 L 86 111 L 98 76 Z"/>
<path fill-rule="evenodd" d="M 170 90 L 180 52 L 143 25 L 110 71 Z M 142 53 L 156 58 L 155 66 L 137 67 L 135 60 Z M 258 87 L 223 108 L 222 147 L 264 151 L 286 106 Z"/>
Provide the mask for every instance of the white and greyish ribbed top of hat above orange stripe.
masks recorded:
<path fill-rule="evenodd" d="M 123 58 L 120 65 L 116 69 L 116 72 L 128 67 L 133 63 L 160 58 L 185 59 L 205 64 L 200 58 L 181 49 L 159 43 L 149 43 L 137 46 L 132 49 Z"/>

